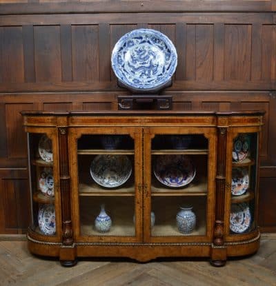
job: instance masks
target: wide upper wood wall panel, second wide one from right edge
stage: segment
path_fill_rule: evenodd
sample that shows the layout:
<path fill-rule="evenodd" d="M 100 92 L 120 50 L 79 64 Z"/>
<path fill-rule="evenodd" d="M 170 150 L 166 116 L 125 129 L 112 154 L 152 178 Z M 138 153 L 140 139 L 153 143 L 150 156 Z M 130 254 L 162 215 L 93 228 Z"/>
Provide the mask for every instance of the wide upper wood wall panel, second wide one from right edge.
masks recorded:
<path fill-rule="evenodd" d="M 224 77 L 249 81 L 251 59 L 251 25 L 226 25 Z"/>

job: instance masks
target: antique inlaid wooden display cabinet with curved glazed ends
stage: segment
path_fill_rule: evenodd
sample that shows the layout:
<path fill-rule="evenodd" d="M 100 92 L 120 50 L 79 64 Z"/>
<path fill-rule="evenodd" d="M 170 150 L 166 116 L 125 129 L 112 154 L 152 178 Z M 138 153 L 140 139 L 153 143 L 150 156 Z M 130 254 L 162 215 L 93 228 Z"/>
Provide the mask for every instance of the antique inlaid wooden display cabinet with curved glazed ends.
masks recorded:
<path fill-rule="evenodd" d="M 264 112 L 21 113 L 32 253 L 221 266 L 257 251 Z"/>

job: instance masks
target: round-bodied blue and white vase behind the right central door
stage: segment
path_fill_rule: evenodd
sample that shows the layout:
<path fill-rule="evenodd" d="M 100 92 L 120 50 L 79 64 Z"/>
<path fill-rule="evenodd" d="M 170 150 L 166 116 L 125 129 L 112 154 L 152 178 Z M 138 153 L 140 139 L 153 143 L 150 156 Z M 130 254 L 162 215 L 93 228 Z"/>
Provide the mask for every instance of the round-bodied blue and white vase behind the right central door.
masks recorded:
<path fill-rule="evenodd" d="M 192 212 L 193 207 L 180 207 L 177 214 L 177 228 L 182 234 L 190 234 L 195 229 L 197 218 Z"/>

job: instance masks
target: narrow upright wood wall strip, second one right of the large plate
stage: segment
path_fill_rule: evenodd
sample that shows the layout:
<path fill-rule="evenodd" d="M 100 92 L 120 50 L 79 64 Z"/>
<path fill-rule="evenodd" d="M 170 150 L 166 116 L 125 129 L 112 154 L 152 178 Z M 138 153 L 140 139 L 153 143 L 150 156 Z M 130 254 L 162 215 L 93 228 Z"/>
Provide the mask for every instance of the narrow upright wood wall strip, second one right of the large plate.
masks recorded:
<path fill-rule="evenodd" d="M 214 24 L 214 80 L 224 80 L 224 24 Z"/>

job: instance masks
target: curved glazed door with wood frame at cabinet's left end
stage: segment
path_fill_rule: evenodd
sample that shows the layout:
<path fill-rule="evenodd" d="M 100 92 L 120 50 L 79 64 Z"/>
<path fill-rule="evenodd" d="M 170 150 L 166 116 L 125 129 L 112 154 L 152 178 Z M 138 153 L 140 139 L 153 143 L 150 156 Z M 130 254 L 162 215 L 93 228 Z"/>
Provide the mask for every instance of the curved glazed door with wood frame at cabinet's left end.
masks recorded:
<path fill-rule="evenodd" d="M 57 130 L 29 127 L 27 131 L 32 205 L 29 234 L 42 241 L 60 241 Z"/>

